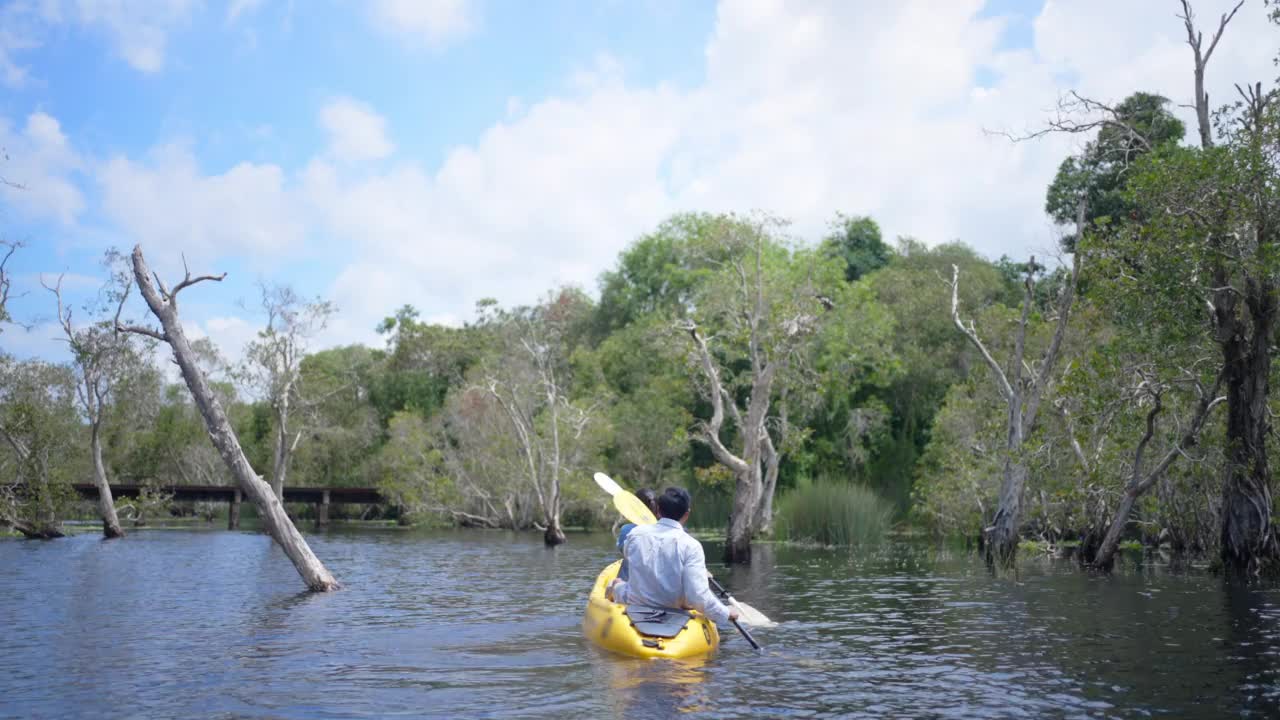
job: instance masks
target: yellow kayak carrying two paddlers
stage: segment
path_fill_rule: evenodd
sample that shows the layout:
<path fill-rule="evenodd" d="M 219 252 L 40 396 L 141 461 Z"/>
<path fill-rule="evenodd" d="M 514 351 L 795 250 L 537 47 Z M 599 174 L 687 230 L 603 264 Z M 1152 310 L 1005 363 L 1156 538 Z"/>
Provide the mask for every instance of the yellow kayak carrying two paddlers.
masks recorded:
<path fill-rule="evenodd" d="M 582 634 L 604 650 L 632 657 L 698 657 L 719 646 L 719 632 L 696 610 L 637 607 L 611 602 L 604 588 L 618 575 L 618 560 L 595 579 L 582 612 Z"/>

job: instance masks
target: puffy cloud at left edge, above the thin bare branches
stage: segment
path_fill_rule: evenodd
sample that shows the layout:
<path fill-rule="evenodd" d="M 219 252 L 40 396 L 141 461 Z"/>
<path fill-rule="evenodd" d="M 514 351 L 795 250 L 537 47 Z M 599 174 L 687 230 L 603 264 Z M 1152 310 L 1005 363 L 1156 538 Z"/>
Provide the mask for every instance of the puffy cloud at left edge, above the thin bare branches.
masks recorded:
<path fill-rule="evenodd" d="M 58 119 L 36 111 L 19 132 L 0 117 L 0 197 L 28 218 L 47 218 L 70 225 L 84 210 L 84 196 L 72 176 L 83 163 Z"/>

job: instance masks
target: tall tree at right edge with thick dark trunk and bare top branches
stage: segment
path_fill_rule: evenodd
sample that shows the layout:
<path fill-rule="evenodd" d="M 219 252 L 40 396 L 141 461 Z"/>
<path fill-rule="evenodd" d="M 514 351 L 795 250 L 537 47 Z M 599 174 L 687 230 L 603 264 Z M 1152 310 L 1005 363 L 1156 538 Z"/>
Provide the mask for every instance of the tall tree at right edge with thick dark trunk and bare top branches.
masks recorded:
<path fill-rule="evenodd" d="M 1167 338 L 1217 345 L 1226 396 L 1221 555 L 1228 568 L 1252 573 L 1280 553 L 1267 454 L 1280 311 L 1280 92 L 1238 86 L 1240 100 L 1211 122 L 1204 70 L 1239 8 L 1219 19 L 1206 44 L 1183 3 L 1199 143 L 1139 160 L 1129 199 L 1143 222 L 1117 233 L 1114 252 L 1128 261 L 1111 277 Z"/>

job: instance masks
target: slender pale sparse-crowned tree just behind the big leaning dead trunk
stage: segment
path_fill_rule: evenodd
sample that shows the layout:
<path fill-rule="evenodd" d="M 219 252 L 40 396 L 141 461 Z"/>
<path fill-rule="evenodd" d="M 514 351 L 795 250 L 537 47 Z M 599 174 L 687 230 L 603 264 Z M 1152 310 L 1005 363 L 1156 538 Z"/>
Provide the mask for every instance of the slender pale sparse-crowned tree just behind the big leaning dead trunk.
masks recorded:
<path fill-rule="evenodd" d="M 261 291 L 266 327 L 244 348 L 242 374 L 271 406 L 271 489 L 284 500 L 289 461 L 303 438 L 303 430 L 296 427 L 297 410 L 308 402 L 300 384 L 302 359 L 307 342 L 325 328 L 335 310 L 328 301 L 305 301 L 287 286 L 264 284 Z"/>

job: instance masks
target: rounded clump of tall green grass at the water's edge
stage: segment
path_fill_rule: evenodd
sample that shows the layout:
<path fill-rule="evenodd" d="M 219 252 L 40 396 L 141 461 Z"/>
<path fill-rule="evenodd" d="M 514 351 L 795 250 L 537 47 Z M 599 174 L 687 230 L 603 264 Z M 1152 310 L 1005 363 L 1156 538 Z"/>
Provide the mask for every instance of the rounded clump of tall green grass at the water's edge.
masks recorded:
<path fill-rule="evenodd" d="M 828 479 L 778 498 L 778 537 L 818 544 L 876 542 L 888 532 L 893 509 L 873 491 Z"/>

